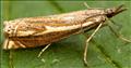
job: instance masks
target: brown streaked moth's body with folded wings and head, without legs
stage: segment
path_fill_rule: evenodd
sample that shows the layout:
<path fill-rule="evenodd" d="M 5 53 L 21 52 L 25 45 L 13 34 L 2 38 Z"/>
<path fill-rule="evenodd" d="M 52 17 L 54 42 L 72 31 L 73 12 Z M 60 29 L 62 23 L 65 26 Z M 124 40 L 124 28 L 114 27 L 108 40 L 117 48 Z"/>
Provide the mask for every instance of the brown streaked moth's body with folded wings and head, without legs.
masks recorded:
<path fill-rule="evenodd" d="M 122 5 L 111 9 L 88 9 L 58 15 L 25 17 L 4 22 L 4 50 L 36 47 L 105 24 L 124 11 Z"/>

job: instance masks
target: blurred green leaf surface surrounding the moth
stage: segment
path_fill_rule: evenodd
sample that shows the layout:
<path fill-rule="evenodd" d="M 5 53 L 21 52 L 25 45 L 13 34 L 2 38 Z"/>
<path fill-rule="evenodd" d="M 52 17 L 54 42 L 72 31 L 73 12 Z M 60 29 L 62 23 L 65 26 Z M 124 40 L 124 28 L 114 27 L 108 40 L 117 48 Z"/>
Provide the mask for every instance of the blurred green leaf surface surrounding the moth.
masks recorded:
<path fill-rule="evenodd" d="M 1 1 L 2 22 L 84 10 L 86 6 L 83 2 L 87 2 L 91 8 L 112 8 L 126 4 L 128 11 L 118 14 L 112 19 L 122 25 L 120 31 L 126 38 L 131 39 L 131 1 Z M 37 55 L 44 46 L 1 50 L 1 68 L 84 68 L 82 59 L 85 39 L 82 35 L 75 35 L 52 43 L 40 58 Z M 1 45 L 3 40 L 1 30 Z M 131 68 L 131 43 L 126 44 L 116 38 L 107 27 L 102 28 L 94 40 L 95 43 L 90 42 L 87 52 L 91 68 Z M 12 54 L 12 64 L 9 59 L 10 53 Z"/>

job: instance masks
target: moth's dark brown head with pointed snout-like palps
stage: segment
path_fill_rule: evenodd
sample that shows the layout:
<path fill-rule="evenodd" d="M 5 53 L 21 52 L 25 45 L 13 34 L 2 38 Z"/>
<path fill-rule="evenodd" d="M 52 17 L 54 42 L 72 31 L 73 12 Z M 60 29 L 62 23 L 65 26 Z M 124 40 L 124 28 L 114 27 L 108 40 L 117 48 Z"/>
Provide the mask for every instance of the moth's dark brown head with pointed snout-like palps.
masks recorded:
<path fill-rule="evenodd" d="M 106 9 L 105 12 L 106 12 L 106 15 L 107 17 L 112 17 L 123 11 L 126 11 L 127 9 L 123 8 L 123 4 L 117 6 L 117 8 L 111 8 L 111 9 Z"/>

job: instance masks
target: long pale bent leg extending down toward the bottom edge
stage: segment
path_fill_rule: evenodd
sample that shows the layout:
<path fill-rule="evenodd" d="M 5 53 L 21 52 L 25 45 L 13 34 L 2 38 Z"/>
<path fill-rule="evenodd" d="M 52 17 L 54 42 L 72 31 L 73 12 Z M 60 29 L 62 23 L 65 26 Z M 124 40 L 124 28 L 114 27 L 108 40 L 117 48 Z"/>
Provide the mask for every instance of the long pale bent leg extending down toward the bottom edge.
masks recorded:
<path fill-rule="evenodd" d="M 83 57 L 83 60 L 84 60 L 84 64 L 85 66 L 87 66 L 87 59 L 86 59 L 86 56 L 87 56 L 87 46 L 88 46 L 88 42 L 90 40 L 94 37 L 94 35 L 98 31 L 98 29 L 102 27 L 103 23 L 100 23 L 98 25 L 98 27 L 95 29 L 95 31 L 87 38 L 87 40 L 85 41 L 85 49 L 84 49 L 84 57 Z"/>

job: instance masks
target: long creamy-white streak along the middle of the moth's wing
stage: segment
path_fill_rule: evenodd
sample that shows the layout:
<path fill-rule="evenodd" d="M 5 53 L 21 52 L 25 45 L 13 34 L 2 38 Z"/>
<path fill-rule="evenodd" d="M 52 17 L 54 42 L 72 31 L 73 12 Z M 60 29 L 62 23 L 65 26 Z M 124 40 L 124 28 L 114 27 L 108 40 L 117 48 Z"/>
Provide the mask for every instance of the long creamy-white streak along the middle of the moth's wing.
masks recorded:
<path fill-rule="evenodd" d="M 82 24 L 82 27 L 88 26 L 91 24 L 93 24 L 94 22 L 87 22 L 85 24 Z M 62 27 L 52 27 L 52 26 L 45 26 L 46 27 L 46 31 L 36 33 L 35 36 L 38 35 L 44 35 L 44 33 L 48 33 L 48 32 L 53 32 L 53 31 L 64 31 L 64 30 L 72 30 L 72 29 L 76 29 L 76 28 L 81 28 L 81 24 L 79 25 L 72 25 L 72 26 L 62 26 Z"/>

